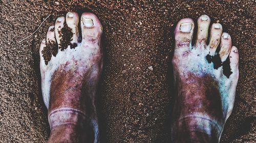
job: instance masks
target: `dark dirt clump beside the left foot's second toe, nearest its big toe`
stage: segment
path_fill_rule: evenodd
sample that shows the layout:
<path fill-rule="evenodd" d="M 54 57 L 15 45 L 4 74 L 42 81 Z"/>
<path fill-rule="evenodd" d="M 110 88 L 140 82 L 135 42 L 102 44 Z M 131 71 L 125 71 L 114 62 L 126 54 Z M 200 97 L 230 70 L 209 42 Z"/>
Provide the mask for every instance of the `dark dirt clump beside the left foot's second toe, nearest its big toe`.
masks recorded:
<path fill-rule="evenodd" d="M 63 28 L 61 28 L 60 31 L 58 31 L 59 33 L 59 37 L 62 37 L 60 39 L 60 44 L 59 44 L 59 48 L 61 51 L 65 50 L 68 48 L 68 46 L 70 45 L 70 48 L 75 48 L 77 47 L 76 43 L 71 43 L 71 41 L 73 40 L 73 33 L 72 33 L 72 29 L 67 25 L 67 23 L 64 23 Z"/>

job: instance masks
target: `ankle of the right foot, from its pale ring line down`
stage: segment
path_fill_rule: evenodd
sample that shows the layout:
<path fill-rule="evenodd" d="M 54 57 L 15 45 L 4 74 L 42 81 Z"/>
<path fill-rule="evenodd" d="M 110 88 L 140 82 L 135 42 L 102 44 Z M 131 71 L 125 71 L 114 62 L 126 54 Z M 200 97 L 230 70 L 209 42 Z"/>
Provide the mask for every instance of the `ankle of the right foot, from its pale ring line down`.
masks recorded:
<path fill-rule="evenodd" d="M 202 113 L 191 113 L 190 115 L 180 117 L 174 122 L 172 137 L 174 141 L 187 138 L 187 141 L 190 140 L 193 142 L 193 140 L 199 140 L 201 138 L 203 140 L 211 140 L 207 142 L 218 142 L 222 129 L 222 124 L 216 120 L 212 120 L 209 116 L 203 115 Z"/>

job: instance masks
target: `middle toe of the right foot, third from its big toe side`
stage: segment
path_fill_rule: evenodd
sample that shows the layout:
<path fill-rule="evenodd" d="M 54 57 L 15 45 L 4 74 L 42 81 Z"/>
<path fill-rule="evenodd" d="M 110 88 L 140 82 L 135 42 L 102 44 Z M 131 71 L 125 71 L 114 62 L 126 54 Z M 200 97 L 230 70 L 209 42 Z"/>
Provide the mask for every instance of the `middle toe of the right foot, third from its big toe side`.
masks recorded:
<path fill-rule="evenodd" d="M 222 25 L 220 23 L 213 23 L 210 30 L 210 42 L 208 45 L 208 50 L 210 55 L 215 55 L 216 49 L 221 41 L 222 35 Z"/>

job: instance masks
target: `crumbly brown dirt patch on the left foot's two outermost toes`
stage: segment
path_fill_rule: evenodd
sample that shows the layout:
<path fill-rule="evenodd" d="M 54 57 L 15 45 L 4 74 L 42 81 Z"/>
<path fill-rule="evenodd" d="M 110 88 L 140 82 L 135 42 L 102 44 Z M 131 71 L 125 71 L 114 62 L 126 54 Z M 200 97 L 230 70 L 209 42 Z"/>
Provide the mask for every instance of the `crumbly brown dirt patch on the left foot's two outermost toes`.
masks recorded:
<path fill-rule="evenodd" d="M 51 60 L 52 55 L 56 56 L 56 54 L 58 53 L 58 45 L 55 41 L 50 41 L 46 44 L 46 47 L 41 51 L 41 53 L 42 57 L 44 57 L 45 64 L 48 65 L 48 62 Z"/>

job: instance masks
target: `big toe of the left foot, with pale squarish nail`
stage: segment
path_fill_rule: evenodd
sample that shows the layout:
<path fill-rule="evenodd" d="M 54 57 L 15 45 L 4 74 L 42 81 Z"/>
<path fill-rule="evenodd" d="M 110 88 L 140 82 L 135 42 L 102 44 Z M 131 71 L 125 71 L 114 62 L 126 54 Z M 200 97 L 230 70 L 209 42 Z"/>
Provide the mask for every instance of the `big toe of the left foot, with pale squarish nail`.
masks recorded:
<path fill-rule="evenodd" d="M 81 16 L 82 44 L 84 42 L 100 41 L 102 34 L 100 20 L 93 13 L 85 12 Z"/>

